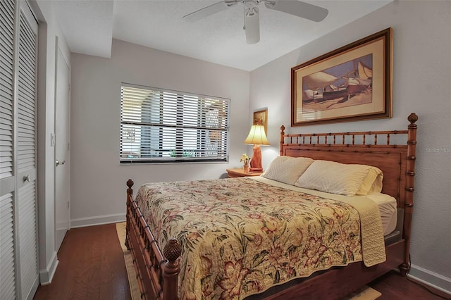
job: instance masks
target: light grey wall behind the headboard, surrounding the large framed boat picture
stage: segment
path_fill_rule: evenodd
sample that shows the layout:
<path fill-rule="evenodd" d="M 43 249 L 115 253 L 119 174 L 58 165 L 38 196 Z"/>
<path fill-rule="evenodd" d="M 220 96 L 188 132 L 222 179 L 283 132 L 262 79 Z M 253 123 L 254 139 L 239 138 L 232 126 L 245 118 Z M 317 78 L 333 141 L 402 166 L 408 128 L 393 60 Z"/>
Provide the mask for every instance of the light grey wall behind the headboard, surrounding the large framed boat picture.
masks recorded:
<path fill-rule="evenodd" d="M 403 130 L 419 115 L 411 275 L 451 292 L 451 1 L 395 1 L 251 73 L 251 111 L 268 107 L 264 167 L 279 127 L 311 133 Z M 393 27 L 393 118 L 290 127 L 290 68 Z M 444 149 L 445 152 L 433 152 Z M 436 150 L 435 150 L 436 151 Z"/>

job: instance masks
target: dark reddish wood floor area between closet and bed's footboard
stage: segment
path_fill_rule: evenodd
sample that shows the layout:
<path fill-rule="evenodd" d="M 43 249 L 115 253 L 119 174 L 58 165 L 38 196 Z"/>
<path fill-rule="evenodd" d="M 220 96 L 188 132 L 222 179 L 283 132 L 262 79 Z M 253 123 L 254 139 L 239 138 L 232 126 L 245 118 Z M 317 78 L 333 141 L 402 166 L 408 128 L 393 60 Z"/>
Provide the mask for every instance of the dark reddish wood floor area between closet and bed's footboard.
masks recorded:
<path fill-rule="evenodd" d="M 35 300 L 131 299 L 115 224 L 69 230 L 58 261 L 51 284 L 39 286 Z"/>

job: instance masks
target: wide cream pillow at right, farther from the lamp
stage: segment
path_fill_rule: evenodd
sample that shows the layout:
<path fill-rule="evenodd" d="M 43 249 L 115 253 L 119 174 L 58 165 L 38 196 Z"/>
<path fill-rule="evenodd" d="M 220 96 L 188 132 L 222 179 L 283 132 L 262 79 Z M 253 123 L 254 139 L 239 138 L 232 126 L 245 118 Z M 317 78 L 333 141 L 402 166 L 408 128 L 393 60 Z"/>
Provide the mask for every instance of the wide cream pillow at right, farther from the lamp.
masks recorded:
<path fill-rule="evenodd" d="M 335 161 L 314 161 L 295 182 L 297 187 L 354 196 L 373 168 L 369 165 L 346 165 Z M 365 191 L 363 191 L 365 192 Z"/>

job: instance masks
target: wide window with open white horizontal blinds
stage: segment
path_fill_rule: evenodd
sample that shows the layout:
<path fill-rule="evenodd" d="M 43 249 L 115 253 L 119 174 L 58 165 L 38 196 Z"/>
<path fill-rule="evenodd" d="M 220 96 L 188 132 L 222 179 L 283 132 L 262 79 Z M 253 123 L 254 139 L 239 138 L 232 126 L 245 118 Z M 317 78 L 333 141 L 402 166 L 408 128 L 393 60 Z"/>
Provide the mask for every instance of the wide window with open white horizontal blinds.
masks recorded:
<path fill-rule="evenodd" d="M 230 100 L 122 85 L 121 163 L 228 161 Z"/>

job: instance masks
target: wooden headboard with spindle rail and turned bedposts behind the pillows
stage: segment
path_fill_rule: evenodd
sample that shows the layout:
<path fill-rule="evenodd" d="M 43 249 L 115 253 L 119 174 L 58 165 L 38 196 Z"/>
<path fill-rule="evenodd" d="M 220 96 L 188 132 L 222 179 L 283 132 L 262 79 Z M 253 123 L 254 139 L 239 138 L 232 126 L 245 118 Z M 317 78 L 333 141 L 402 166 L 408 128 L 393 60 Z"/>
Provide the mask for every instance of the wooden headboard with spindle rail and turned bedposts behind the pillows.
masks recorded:
<path fill-rule="evenodd" d="M 407 120 L 410 123 L 407 130 L 369 132 L 285 135 L 285 126 L 281 126 L 280 155 L 380 168 L 383 172 L 382 192 L 395 197 L 397 207 L 404 208 L 403 237 L 409 240 L 414 207 L 415 122 L 418 116 L 411 113 Z M 400 136 L 402 144 L 393 144 L 393 140 L 399 141 Z"/>

